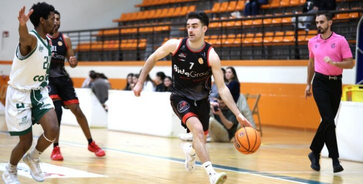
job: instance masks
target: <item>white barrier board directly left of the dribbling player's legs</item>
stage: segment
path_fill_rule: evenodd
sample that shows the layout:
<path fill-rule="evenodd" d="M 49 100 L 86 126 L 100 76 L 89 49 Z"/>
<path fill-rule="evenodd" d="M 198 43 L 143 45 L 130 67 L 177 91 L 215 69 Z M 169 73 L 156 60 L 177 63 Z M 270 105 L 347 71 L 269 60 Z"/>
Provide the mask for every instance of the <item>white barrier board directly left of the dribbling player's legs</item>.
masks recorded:
<path fill-rule="evenodd" d="M 177 137 L 186 130 L 170 105 L 170 92 L 110 90 L 108 129 L 163 137 Z"/>

